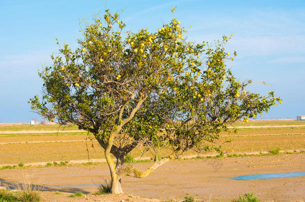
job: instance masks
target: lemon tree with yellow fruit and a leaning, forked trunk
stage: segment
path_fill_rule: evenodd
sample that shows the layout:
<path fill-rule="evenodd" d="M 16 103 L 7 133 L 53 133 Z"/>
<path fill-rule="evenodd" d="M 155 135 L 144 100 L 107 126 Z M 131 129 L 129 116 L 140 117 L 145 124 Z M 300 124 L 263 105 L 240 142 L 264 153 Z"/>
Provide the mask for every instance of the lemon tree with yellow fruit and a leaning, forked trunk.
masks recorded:
<path fill-rule="evenodd" d="M 79 48 L 64 44 L 51 55 L 53 64 L 38 73 L 42 96 L 29 100 L 49 120 L 94 135 L 104 149 L 112 193 L 122 193 L 122 177 L 143 178 L 187 150 L 221 152 L 214 143 L 228 124 L 247 122 L 281 102 L 273 92 L 245 91 L 251 81 L 238 81 L 225 65 L 236 55 L 224 51 L 228 37 L 212 45 L 187 41 L 176 18 L 155 32 L 124 27 L 109 10 L 103 19 L 94 17 Z M 123 165 L 135 148 L 150 151 L 154 164 L 146 170 Z M 172 153 L 159 159 L 162 148 Z"/>

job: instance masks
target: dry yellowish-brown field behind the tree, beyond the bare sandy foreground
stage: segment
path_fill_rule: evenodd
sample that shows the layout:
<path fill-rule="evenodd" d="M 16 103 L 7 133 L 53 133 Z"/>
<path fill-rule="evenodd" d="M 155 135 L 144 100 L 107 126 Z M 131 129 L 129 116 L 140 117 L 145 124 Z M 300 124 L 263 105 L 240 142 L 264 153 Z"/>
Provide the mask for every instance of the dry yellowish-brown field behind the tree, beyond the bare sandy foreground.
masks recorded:
<path fill-rule="evenodd" d="M 269 121 L 272 128 L 251 128 L 266 121 L 249 122 L 249 128 L 239 129 L 237 134 L 220 134 L 222 144 L 228 154 L 267 152 L 274 148 L 287 151 L 305 150 L 305 127 L 280 127 L 282 124 L 296 125 L 295 121 Z M 301 123 L 305 123 L 299 121 Z M 244 126 L 244 125 L 243 125 Z M 59 129 L 59 130 L 58 130 Z M 13 151 L 13 152 L 12 152 Z M 88 152 L 87 152 L 88 151 Z M 161 156 L 168 154 L 163 150 Z M 205 153 L 209 155 L 210 153 Z M 139 155 L 135 150 L 133 156 Z M 187 155 L 196 155 L 190 151 Z M 103 150 L 92 135 L 76 130 L 75 126 L 59 127 L 58 125 L 6 125 L 0 126 L 0 165 L 53 162 L 88 159 L 103 159 Z M 150 157 L 147 153 L 144 157 Z"/>

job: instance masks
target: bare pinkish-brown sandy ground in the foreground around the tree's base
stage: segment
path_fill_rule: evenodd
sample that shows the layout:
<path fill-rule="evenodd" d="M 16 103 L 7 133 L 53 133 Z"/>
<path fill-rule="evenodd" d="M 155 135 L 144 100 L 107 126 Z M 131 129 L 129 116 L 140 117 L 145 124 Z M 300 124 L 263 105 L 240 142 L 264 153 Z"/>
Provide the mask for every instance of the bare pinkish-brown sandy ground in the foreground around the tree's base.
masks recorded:
<path fill-rule="evenodd" d="M 148 163 L 135 165 L 138 168 L 148 166 Z M 247 181 L 236 181 L 231 178 L 251 174 L 304 172 L 304 168 L 304 154 L 175 160 L 162 165 L 144 179 L 124 177 L 122 185 L 125 193 L 148 199 L 182 200 L 188 194 L 188 196 L 205 201 L 210 198 L 211 201 L 226 202 L 244 193 L 254 193 L 263 202 L 272 200 L 274 202 L 292 202 L 305 200 L 304 176 Z M 108 178 L 107 165 L 0 171 L 2 184 L 15 186 L 24 181 L 32 182 L 34 185 L 44 186 L 45 191 L 51 192 L 89 194 L 95 192 L 97 187 L 85 185 L 101 184 L 103 179 Z M 82 186 L 75 187 L 75 185 Z M 61 201 L 57 199 L 61 195 L 57 196 L 54 193 L 44 193 L 43 196 L 46 202 Z M 62 195 L 62 197 L 67 197 L 67 195 Z M 108 197 L 111 199 L 111 196 Z M 129 201 L 133 199 L 127 196 L 128 198 Z M 84 197 L 80 199 L 86 200 Z M 92 200 L 102 201 L 103 198 L 100 196 L 100 198 Z M 126 195 L 123 196 L 123 199 L 117 199 L 117 201 L 120 200 L 126 200 Z M 116 199 L 112 197 L 112 201 L 114 202 Z"/>

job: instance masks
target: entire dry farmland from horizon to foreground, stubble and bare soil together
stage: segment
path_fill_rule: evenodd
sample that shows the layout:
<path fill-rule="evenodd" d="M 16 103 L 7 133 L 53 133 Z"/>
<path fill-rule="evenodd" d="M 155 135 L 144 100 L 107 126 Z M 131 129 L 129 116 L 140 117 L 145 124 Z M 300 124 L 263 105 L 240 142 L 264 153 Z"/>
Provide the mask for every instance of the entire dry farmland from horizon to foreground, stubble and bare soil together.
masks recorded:
<path fill-rule="evenodd" d="M 228 139 L 232 141 L 222 145 L 226 154 L 253 154 L 268 152 L 275 148 L 281 151 L 298 154 L 281 153 L 275 156 L 252 156 L 219 159 L 197 159 L 172 161 L 161 166 L 145 179 L 123 179 L 123 189 L 130 193 L 120 197 L 107 196 L 100 198 L 86 195 L 74 201 L 129 201 L 141 202 L 145 198 L 158 200 L 182 200 L 185 194 L 196 199 L 226 202 L 244 193 L 253 192 L 262 201 L 292 202 L 304 200 L 304 177 L 279 178 L 271 180 L 235 181 L 230 179 L 238 175 L 304 172 L 305 122 L 302 121 L 250 121 L 248 124 L 237 123 L 240 129 L 236 134 L 221 133 L 219 143 Z M 91 138 L 91 139 L 90 139 Z M 163 150 L 161 156 L 168 154 Z M 137 156 L 138 150 L 132 155 Z M 201 155 L 213 155 L 204 153 Z M 186 155 L 197 155 L 188 152 Z M 103 159 L 103 150 L 91 134 L 80 131 L 75 126 L 59 127 L 58 125 L 0 125 L 0 168 L 4 165 L 19 163 L 65 162 L 72 160 Z M 145 157 L 150 157 L 146 154 Z M 77 161 L 75 161 L 77 162 Z M 216 169 L 215 169 L 216 165 Z M 220 165 L 220 166 L 219 166 Z M 149 163 L 137 164 L 146 168 Z M 22 169 L 0 170 L 0 183 L 18 184 L 22 178 L 30 178 L 32 183 L 46 187 L 43 200 L 72 201 L 64 192 L 92 193 L 96 187 L 56 187 L 79 184 L 100 184 L 108 178 L 105 164 L 49 168 L 29 167 Z M 136 186 L 135 186 L 136 185 Z M 53 192 L 63 192 L 55 195 Z M 131 195 L 132 194 L 132 195 Z M 147 202 L 150 200 L 147 200 Z M 153 201 L 153 200 L 151 200 Z M 157 200 L 155 200 L 157 201 Z"/>

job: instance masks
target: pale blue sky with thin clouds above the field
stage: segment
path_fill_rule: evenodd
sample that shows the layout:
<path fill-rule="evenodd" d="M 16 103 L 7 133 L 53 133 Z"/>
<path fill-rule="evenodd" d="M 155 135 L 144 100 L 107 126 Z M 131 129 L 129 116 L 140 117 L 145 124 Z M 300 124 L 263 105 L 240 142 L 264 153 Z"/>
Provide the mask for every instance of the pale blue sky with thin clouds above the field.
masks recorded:
<path fill-rule="evenodd" d="M 73 3 L 71 3 L 73 2 Z M 275 91 L 283 104 L 262 118 L 305 115 L 304 0 L 0 0 L 0 122 L 40 119 L 26 101 L 40 94 L 37 70 L 49 65 L 49 55 L 61 44 L 76 47 L 79 21 L 109 8 L 120 11 L 126 30 L 155 31 L 168 22 L 171 6 L 181 25 L 191 27 L 187 39 L 212 41 L 233 34 L 227 62 L 233 73 L 253 82 L 250 91 Z"/>

